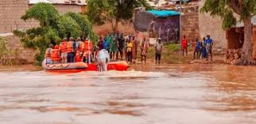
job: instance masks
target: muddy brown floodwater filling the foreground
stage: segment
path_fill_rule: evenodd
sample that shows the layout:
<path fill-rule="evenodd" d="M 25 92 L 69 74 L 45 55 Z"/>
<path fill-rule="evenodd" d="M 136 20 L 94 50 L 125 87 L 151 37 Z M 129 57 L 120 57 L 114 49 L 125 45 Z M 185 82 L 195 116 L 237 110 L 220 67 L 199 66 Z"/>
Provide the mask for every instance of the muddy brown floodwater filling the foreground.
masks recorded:
<path fill-rule="evenodd" d="M 4 124 L 255 124 L 256 67 L 0 72 Z"/>

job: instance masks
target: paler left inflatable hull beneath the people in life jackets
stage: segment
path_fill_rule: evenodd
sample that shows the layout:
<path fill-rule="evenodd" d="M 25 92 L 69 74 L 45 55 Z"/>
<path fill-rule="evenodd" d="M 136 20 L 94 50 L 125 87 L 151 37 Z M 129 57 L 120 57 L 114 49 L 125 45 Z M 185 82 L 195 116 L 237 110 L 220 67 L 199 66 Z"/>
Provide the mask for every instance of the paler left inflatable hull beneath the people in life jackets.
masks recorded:
<path fill-rule="evenodd" d="M 43 68 L 48 72 L 56 73 L 79 73 L 87 70 L 87 64 L 83 62 L 46 64 L 46 60 L 42 62 Z"/>

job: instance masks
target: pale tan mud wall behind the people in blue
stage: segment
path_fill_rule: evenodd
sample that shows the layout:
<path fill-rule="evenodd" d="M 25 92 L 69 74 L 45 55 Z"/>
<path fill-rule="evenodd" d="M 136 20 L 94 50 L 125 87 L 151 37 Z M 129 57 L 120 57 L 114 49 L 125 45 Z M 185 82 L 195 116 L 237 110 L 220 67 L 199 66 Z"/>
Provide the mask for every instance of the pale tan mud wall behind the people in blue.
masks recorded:
<path fill-rule="evenodd" d="M 204 6 L 204 1 L 199 2 L 199 7 Z M 211 17 L 209 13 L 199 14 L 200 39 L 210 35 L 214 40 L 214 47 L 227 48 L 226 32 L 222 28 L 222 20 L 219 17 Z"/>

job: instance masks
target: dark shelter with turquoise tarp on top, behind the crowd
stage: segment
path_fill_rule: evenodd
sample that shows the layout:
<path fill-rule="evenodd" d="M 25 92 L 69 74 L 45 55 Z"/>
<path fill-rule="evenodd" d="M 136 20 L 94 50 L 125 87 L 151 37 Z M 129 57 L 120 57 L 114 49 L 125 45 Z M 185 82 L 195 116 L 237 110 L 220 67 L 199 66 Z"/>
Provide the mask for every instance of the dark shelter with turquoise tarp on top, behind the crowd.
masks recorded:
<path fill-rule="evenodd" d="M 180 40 L 180 13 L 173 10 L 149 10 L 135 15 L 134 28 L 160 37 L 164 42 Z"/>

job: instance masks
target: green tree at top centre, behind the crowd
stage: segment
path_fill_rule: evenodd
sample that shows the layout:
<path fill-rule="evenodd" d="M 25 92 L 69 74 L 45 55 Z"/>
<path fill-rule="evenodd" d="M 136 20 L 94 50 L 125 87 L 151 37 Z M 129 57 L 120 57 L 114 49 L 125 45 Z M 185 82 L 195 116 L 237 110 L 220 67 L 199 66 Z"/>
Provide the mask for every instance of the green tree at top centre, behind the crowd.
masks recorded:
<path fill-rule="evenodd" d="M 109 21 L 113 31 L 117 31 L 118 22 L 130 20 L 139 6 L 149 9 L 145 0 L 88 0 L 87 16 L 93 24 L 102 25 Z"/>

